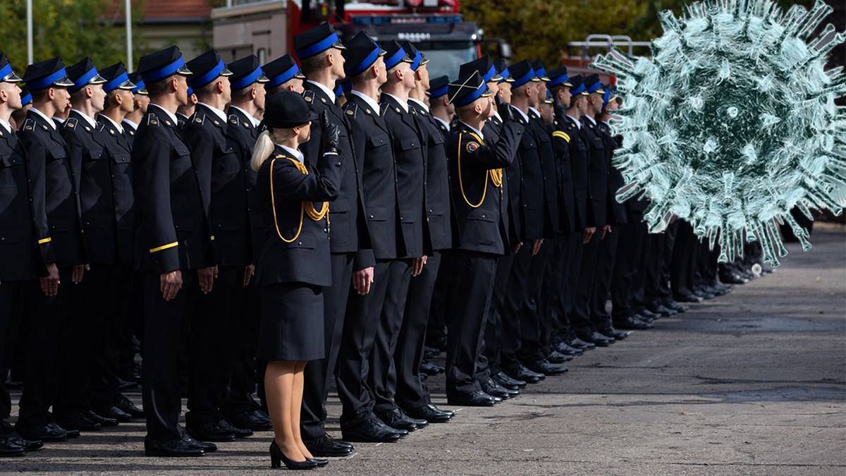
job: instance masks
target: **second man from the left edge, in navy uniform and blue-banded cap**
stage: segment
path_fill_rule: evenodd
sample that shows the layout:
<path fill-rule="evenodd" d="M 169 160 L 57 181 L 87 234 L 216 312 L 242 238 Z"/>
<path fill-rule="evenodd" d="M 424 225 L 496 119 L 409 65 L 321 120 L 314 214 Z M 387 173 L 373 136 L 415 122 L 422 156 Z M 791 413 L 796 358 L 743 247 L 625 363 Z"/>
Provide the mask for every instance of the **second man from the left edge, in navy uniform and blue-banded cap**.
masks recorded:
<path fill-rule="evenodd" d="M 30 64 L 24 80 L 32 94 L 33 106 L 18 136 L 30 165 L 33 208 L 47 210 L 47 223 L 39 226 L 44 230 L 40 233 L 46 235 L 41 238 L 48 248 L 44 252 L 48 262 L 55 259 L 64 286 L 59 286 L 57 296 L 47 299 L 43 313 L 28 323 L 25 374 L 30 378 L 26 379 L 20 399 L 16 429 L 28 440 L 65 440 L 73 434 L 54 423 L 48 409 L 56 399 L 54 379 L 57 374 L 54 371 L 60 335 L 78 298 L 79 288 L 72 283 L 82 281 L 87 258 L 74 171 L 67 146 L 52 116 L 70 107 L 68 87 L 74 83 L 68 79 L 59 58 Z"/>

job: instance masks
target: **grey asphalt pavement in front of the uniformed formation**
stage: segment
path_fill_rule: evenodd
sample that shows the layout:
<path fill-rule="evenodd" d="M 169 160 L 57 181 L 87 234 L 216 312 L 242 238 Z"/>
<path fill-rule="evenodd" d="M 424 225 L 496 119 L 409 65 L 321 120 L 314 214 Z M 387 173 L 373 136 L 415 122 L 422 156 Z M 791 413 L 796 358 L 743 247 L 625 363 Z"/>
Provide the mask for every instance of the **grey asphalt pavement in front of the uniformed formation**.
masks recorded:
<path fill-rule="evenodd" d="M 846 232 L 569 374 L 322 473 L 846 473 Z M 442 379 L 433 387 L 445 398 Z M 135 398 L 138 396 L 135 395 Z M 339 414 L 337 400 L 331 413 Z M 337 430 L 337 418 L 331 429 Z M 267 473 L 270 434 L 199 459 L 145 458 L 143 423 L 0 461 L 0 472 Z"/>

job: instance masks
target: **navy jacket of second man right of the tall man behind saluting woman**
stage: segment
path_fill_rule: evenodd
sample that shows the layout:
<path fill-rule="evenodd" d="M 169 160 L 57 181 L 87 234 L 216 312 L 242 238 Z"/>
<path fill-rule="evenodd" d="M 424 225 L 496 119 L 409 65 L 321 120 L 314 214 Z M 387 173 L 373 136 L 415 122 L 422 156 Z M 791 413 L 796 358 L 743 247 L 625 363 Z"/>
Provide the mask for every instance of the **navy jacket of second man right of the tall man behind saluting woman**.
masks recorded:
<path fill-rule="evenodd" d="M 382 94 L 382 119 L 391 133 L 393 160 L 397 164 L 397 202 L 399 225 L 403 230 L 403 249 L 399 257 L 421 257 L 423 248 L 423 216 L 426 206 L 426 148 L 416 114 L 406 113 L 396 99 Z"/>

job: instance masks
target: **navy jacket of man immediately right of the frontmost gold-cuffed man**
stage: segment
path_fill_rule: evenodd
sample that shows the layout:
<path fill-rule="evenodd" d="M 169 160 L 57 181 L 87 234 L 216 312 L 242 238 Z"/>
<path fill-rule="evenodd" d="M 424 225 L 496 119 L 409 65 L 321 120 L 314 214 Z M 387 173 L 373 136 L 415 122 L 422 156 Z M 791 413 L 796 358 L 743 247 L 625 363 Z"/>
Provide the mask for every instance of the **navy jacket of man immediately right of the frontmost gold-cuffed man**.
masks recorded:
<path fill-rule="evenodd" d="M 222 266 L 252 263 L 247 211 L 250 155 L 242 153 L 244 141 L 239 133 L 204 104 L 197 104 L 183 127 L 214 235 L 215 257 Z"/>

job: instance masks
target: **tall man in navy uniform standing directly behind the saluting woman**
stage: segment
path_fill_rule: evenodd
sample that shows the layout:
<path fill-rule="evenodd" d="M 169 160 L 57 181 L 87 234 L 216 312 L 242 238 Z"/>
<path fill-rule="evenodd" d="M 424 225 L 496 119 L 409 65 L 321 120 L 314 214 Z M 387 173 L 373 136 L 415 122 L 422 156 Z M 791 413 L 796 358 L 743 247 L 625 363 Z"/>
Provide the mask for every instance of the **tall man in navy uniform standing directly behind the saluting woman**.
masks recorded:
<path fill-rule="evenodd" d="M 344 313 L 349 299 L 350 281 L 355 291 L 366 292 L 373 280 L 373 263 L 354 263 L 356 252 L 371 248 L 371 235 L 365 222 L 361 185 L 362 165 L 352 152 L 349 122 L 336 105 L 334 93 L 338 80 L 343 80 L 343 49 L 332 26 L 323 23 L 294 36 L 294 47 L 302 64 L 305 80 L 303 97 L 313 113 L 327 113 L 327 118 L 340 130 L 340 151 L 343 156 L 343 179 L 338 199 L 329 206 L 332 227 L 328 230 L 332 247 L 332 288 L 327 289 L 323 340 L 324 358 L 309 363 L 305 372 L 302 432 L 305 445 L 316 455 L 343 456 L 352 451 L 349 444 L 332 440 L 324 429 L 326 399 L 332 369 L 338 359 L 343 333 Z M 307 160 L 322 154 L 321 128 L 313 124 L 311 140 L 302 146 Z M 313 163 L 312 163 L 313 164 Z"/>

